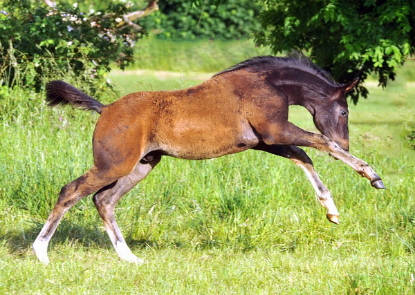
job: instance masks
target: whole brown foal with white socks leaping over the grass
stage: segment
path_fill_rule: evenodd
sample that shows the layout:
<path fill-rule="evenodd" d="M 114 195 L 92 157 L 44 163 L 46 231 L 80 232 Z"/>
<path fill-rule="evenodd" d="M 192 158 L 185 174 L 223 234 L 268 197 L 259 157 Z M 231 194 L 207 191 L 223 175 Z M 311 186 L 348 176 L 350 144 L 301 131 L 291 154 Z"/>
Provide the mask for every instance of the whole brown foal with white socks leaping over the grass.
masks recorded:
<path fill-rule="evenodd" d="M 118 200 L 130 191 L 163 155 L 201 160 L 257 149 L 292 160 L 306 173 L 327 218 L 338 223 L 331 193 L 297 146 L 310 146 L 342 160 L 377 189 L 382 180 L 349 151 L 348 108 L 344 94 L 356 86 L 337 84 L 304 55 L 255 57 L 208 81 L 181 91 L 131 93 L 107 106 L 77 88 L 49 82 L 50 106 L 72 104 L 100 113 L 93 134 L 94 164 L 62 187 L 33 250 L 48 263 L 47 247 L 57 225 L 76 202 L 95 193 L 109 238 L 121 259 L 142 262 L 127 246 L 114 217 Z M 288 106 L 304 106 L 322 134 L 288 122 Z"/>

